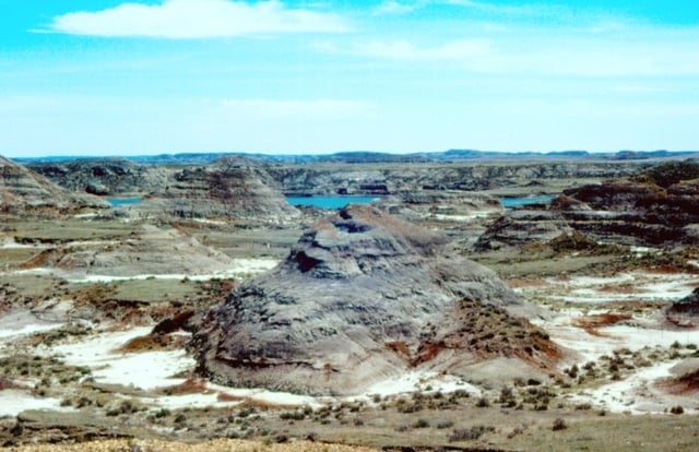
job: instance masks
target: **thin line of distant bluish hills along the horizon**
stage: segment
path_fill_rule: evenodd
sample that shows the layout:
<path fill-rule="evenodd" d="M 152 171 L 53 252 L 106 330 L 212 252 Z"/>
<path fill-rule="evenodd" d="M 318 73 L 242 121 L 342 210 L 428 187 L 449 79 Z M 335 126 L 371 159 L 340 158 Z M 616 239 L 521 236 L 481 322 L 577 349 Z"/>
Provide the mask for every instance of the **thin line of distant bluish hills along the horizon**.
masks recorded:
<path fill-rule="evenodd" d="M 158 155 L 137 155 L 122 157 L 141 165 L 205 165 L 224 157 L 246 157 L 259 163 L 272 164 L 305 164 L 305 163 L 439 163 L 439 162 L 469 162 L 469 160 L 645 160 L 654 158 L 686 158 L 699 157 L 699 151 L 617 151 L 617 152 L 589 152 L 589 151 L 555 151 L 555 152 L 499 152 L 477 150 L 449 150 L 439 152 L 419 152 L 410 154 L 390 154 L 374 151 L 344 151 L 334 154 L 297 154 L 273 155 L 259 153 L 180 153 Z M 56 163 L 75 159 L 84 159 L 88 156 L 47 156 L 47 157 L 21 157 L 14 162 L 22 164 Z M 104 157 L 107 158 L 107 157 Z"/>

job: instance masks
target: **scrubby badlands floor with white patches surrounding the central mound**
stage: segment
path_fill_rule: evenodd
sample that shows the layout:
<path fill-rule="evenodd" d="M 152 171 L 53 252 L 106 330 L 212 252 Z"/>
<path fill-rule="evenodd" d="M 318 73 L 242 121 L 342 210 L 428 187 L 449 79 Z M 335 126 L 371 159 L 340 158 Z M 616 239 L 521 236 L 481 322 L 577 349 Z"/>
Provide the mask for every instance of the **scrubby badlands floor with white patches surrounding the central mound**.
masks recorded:
<path fill-rule="evenodd" d="M 451 226 L 467 230 L 469 221 L 460 226 L 451 218 Z M 189 333 L 151 334 L 164 319 L 217 304 L 240 281 L 269 269 L 298 230 L 152 227 L 81 219 L 3 225 L 0 444 L 690 451 L 699 443 L 697 392 L 672 384 L 697 366 L 699 332 L 662 316 L 663 307 L 699 285 L 686 251 L 541 247 L 474 255 L 544 308 L 532 321 L 567 349 L 558 374 L 548 381 L 513 374 L 497 385 L 488 372 L 511 369 L 495 360 L 467 380 L 414 372 L 355 397 L 307 397 L 211 384 L 193 373 L 185 348 Z M 147 262 L 133 260 L 128 277 L 110 270 L 121 267 L 116 243 L 127 238 L 162 252 L 158 240 L 144 238 L 155 233 L 181 245 L 168 248 L 167 262 L 147 261 L 144 253 Z M 106 257 L 99 269 L 66 265 L 90 262 L 79 258 L 94 252 Z M 215 269 L 214 259 L 227 263 Z"/>

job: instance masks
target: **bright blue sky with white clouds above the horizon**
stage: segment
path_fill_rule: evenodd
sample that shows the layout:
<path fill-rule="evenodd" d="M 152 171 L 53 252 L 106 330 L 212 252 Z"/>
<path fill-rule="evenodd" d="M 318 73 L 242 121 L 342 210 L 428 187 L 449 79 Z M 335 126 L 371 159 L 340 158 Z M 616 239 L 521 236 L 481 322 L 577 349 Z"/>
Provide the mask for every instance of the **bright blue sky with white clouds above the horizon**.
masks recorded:
<path fill-rule="evenodd" d="M 0 0 L 0 155 L 699 148 L 694 1 Z"/>

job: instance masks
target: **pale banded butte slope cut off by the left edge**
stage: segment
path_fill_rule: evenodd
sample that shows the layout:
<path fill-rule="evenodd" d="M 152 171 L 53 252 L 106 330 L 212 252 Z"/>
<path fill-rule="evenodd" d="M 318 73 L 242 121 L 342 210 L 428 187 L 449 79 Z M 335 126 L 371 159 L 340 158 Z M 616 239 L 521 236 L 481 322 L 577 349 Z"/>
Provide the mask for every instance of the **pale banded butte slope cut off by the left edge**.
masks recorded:
<path fill-rule="evenodd" d="M 107 209 L 96 197 L 71 193 L 45 177 L 0 157 L 0 214 L 56 217 L 85 209 Z"/>

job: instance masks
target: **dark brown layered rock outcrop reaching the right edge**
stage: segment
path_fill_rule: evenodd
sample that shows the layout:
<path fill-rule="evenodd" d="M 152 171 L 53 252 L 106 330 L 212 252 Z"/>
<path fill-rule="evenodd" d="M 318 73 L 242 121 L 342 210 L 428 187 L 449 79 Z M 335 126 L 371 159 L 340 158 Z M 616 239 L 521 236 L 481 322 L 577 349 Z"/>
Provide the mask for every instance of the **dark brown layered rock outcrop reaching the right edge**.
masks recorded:
<path fill-rule="evenodd" d="M 476 248 L 547 241 L 576 230 L 591 239 L 650 247 L 699 245 L 699 164 L 675 162 L 629 178 L 564 190 L 546 211 L 514 210 Z"/>

